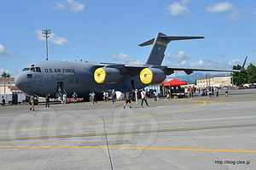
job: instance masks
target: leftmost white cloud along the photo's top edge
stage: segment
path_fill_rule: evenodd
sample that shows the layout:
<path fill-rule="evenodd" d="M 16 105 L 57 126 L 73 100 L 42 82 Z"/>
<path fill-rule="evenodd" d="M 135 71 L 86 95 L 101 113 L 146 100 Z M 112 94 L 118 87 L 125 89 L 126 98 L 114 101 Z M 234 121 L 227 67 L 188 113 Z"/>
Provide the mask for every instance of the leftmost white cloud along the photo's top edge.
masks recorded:
<path fill-rule="evenodd" d="M 84 4 L 74 0 L 66 0 L 65 3 L 58 3 L 58 2 L 53 2 L 53 3 L 55 3 L 55 5 L 51 7 L 52 10 L 61 10 L 65 8 L 70 8 L 73 12 L 79 12 L 84 10 Z"/>

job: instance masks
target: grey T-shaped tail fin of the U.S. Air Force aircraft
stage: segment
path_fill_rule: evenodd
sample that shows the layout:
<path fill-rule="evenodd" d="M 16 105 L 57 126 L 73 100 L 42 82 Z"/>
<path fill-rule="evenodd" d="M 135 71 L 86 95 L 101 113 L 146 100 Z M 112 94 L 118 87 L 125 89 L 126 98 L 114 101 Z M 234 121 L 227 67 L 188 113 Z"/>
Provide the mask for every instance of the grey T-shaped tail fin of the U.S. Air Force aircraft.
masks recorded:
<path fill-rule="evenodd" d="M 162 61 L 165 57 L 165 51 L 167 44 L 174 40 L 188 40 L 188 39 L 198 39 L 204 37 L 168 37 L 165 34 L 158 32 L 156 36 L 147 42 L 143 42 L 139 44 L 139 46 L 143 47 L 146 45 L 153 44 L 151 51 L 148 54 L 148 59 L 145 65 L 161 65 Z"/>

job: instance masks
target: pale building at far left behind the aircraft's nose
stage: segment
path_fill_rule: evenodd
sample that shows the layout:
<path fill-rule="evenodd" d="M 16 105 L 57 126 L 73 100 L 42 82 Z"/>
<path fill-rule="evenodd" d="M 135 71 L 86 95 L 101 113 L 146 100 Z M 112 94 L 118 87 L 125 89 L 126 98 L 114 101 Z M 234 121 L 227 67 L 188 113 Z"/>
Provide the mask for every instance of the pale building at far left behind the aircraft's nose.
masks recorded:
<path fill-rule="evenodd" d="M 4 91 L 5 94 L 21 92 L 20 89 L 15 86 L 15 78 L 0 78 L 0 94 L 4 94 Z"/>

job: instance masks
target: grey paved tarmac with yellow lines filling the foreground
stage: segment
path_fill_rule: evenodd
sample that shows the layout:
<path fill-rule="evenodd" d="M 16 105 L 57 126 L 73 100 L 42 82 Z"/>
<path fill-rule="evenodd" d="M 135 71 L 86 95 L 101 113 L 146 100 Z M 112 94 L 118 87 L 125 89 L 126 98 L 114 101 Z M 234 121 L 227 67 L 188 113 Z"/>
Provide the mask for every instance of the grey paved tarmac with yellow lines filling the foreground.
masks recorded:
<path fill-rule="evenodd" d="M 6 105 L 0 169 L 256 169 L 255 94 Z"/>

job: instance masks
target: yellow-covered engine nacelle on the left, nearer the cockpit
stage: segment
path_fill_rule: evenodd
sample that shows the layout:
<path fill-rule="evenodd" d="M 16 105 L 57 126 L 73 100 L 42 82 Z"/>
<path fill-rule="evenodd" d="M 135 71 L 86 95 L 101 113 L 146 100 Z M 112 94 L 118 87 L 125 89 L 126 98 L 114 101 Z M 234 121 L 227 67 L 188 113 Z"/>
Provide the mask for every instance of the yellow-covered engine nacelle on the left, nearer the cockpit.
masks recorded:
<path fill-rule="evenodd" d="M 115 68 L 102 67 L 94 71 L 94 80 L 98 83 L 111 84 L 119 82 L 121 77 L 120 71 Z"/>

